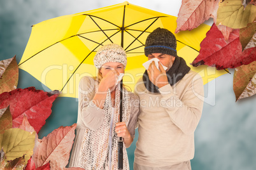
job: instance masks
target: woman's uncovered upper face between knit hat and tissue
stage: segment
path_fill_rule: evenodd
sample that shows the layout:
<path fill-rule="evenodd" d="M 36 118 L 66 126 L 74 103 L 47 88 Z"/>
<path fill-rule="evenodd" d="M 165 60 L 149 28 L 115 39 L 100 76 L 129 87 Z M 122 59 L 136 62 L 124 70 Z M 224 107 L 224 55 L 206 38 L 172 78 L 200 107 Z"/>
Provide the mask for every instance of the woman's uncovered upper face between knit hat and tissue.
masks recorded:
<path fill-rule="evenodd" d="M 108 72 L 115 72 L 119 75 L 120 73 L 124 73 L 124 65 L 118 62 L 104 63 L 99 71 L 103 77 L 108 74 Z"/>

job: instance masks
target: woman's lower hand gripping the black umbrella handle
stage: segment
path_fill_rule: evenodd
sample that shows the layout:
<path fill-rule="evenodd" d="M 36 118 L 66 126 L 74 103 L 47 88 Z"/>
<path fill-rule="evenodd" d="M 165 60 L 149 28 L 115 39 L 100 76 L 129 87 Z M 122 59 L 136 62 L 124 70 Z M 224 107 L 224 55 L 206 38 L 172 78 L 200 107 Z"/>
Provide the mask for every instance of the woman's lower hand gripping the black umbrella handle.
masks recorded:
<path fill-rule="evenodd" d="M 131 137 L 125 122 L 118 122 L 115 124 L 115 132 L 117 133 L 118 137 L 124 138 L 125 147 L 129 148 L 132 144 L 133 138 Z"/>

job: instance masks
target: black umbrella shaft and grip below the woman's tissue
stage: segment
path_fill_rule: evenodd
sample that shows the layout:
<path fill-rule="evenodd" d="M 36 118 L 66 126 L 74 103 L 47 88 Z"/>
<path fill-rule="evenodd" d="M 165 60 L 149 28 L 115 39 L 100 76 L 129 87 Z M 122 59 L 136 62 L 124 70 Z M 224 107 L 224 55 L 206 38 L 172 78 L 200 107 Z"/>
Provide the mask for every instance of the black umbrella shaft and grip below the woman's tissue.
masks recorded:
<path fill-rule="evenodd" d="M 120 122 L 122 122 L 122 112 L 123 111 L 123 80 L 120 82 Z M 123 147 L 124 141 L 122 137 L 118 141 L 118 169 L 123 169 Z"/>

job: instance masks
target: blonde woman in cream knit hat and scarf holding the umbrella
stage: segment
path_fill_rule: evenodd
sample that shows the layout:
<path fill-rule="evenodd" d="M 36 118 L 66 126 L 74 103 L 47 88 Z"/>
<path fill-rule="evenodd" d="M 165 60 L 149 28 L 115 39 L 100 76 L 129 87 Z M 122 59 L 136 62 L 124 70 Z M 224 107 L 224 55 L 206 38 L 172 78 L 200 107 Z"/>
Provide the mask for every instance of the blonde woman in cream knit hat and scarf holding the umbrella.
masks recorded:
<path fill-rule="evenodd" d="M 122 121 L 120 112 L 120 79 L 127 58 L 124 49 L 108 44 L 97 51 L 94 65 L 98 76 L 80 81 L 76 139 L 69 167 L 84 169 L 117 169 L 118 139 L 128 148 L 134 138 L 138 119 L 138 96 L 123 88 Z M 120 75 L 120 76 L 121 76 Z M 129 169 L 124 147 L 124 169 Z"/>

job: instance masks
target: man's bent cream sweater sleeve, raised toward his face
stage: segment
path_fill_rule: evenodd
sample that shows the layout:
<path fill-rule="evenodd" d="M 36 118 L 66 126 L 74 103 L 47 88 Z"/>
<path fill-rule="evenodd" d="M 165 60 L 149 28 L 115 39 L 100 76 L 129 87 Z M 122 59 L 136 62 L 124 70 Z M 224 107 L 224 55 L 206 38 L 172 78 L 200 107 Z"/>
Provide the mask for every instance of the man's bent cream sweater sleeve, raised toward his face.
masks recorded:
<path fill-rule="evenodd" d="M 183 91 L 182 98 L 175 95 L 175 90 L 170 84 L 159 89 L 162 98 L 166 103 L 173 103 L 171 107 L 164 105 L 166 112 L 169 114 L 171 121 L 185 134 L 193 134 L 201 118 L 203 110 L 204 87 L 203 79 L 196 74 L 188 88 Z"/>

